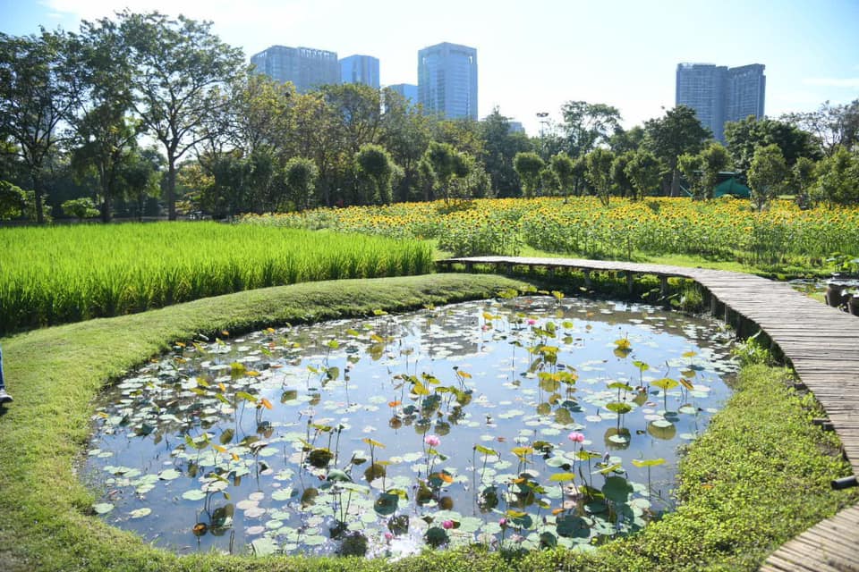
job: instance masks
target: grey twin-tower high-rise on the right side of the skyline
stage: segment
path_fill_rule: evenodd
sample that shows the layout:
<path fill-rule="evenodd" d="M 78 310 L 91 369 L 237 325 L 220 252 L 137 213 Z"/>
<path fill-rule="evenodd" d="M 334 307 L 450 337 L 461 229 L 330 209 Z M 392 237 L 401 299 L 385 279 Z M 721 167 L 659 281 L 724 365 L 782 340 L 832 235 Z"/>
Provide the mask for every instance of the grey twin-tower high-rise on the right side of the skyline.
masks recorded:
<path fill-rule="evenodd" d="M 725 123 L 749 115 L 763 117 L 766 91 L 764 65 L 753 63 L 737 68 L 712 63 L 677 65 L 676 105 L 688 105 L 698 120 L 725 141 Z"/>

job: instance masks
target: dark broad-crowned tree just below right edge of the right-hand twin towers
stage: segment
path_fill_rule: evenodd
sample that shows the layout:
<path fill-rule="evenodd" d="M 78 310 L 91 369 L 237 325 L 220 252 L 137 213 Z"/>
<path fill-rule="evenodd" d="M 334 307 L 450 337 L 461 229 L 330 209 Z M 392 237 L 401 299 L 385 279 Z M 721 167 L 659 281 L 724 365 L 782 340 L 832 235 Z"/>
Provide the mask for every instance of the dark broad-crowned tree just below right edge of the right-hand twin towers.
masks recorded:
<path fill-rule="evenodd" d="M 754 151 L 758 147 L 778 145 L 781 154 L 788 165 L 793 165 L 800 157 L 819 159 L 820 150 L 812 140 L 811 133 L 797 128 L 795 125 L 749 115 L 738 122 L 725 124 L 725 141 L 733 159 L 734 166 L 741 177 L 752 164 Z"/>

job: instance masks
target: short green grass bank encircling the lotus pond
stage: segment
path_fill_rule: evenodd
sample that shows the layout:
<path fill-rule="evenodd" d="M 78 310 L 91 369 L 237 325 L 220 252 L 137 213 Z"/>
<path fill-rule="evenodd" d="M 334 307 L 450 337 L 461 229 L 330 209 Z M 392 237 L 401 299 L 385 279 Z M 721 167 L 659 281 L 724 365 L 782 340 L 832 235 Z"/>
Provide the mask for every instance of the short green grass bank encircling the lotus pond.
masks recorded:
<path fill-rule="evenodd" d="M 527 555 L 429 551 L 394 563 L 365 559 L 177 557 L 91 514 L 94 496 L 73 464 L 89 435 L 92 402 L 123 372 L 195 333 L 402 311 L 492 295 L 518 282 L 434 274 L 318 282 L 201 299 L 144 314 L 96 319 L 4 338 L 15 403 L 0 417 L 0 569 L 18 570 L 700 570 L 753 569 L 792 535 L 856 492 L 832 433 L 810 423 L 812 401 L 787 389 L 784 370 L 744 368 L 736 394 L 680 468 L 680 507 L 642 534 L 593 553 Z"/>

